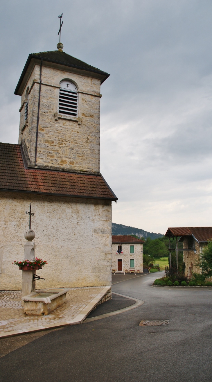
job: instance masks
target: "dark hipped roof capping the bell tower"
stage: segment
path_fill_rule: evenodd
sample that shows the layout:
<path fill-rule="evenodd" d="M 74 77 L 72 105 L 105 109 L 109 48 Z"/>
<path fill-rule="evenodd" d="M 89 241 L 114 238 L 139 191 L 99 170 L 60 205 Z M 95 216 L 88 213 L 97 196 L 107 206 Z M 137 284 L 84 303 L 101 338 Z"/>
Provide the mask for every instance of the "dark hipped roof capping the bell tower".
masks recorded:
<path fill-rule="evenodd" d="M 16 86 L 15 94 L 17 95 L 20 95 L 19 87 L 21 86 L 24 75 L 26 74 L 28 66 L 33 58 L 40 59 L 40 60 L 43 59 L 43 61 L 53 62 L 60 65 L 70 66 L 72 68 L 77 68 L 77 69 L 87 70 L 93 73 L 98 73 L 102 77 L 101 84 L 105 81 L 105 79 L 107 79 L 110 76 L 110 74 L 95 68 L 95 66 L 86 64 L 86 62 L 81 61 L 78 58 L 75 58 L 68 53 L 60 52 L 59 50 L 31 53 L 26 61 L 23 72 L 21 73 L 21 77 L 18 81 L 18 85 Z"/>

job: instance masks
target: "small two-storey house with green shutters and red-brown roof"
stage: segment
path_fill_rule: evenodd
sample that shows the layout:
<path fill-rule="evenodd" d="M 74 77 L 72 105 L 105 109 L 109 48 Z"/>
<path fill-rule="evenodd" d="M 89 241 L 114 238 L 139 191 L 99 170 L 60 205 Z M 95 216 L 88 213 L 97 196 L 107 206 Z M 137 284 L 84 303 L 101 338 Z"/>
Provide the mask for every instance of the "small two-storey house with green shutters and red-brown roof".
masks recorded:
<path fill-rule="evenodd" d="M 143 243 L 130 235 L 112 235 L 112 271 L 143 272 Z"/>

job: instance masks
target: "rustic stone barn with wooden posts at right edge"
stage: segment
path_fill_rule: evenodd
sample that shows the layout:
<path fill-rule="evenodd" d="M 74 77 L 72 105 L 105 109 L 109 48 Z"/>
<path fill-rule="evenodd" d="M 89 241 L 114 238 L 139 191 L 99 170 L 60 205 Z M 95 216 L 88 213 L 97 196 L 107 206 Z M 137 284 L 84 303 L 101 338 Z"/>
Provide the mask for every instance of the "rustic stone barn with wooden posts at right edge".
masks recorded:
<path fill-rule="evenodd" d="M 202 249 L 212 238 L 212 227 L 172 227 L 168 228 L 165 236 L 176 237 L 176 251 L 183 251 L 185 274 L 191 277 L 192 272 L 201 273 L 196 262 L 201 256 Z M 182 249 L 178 248 L 178 241 L 183 242 Z"/>

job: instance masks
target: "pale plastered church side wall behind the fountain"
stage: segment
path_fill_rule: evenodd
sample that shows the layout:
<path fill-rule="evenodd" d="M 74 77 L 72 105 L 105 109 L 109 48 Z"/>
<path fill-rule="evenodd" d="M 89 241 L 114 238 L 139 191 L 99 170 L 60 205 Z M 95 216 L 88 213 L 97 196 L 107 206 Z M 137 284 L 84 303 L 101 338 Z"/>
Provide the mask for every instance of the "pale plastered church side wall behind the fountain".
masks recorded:
<path fill-rule="evenodd" d="M 36 288 L 101 286 L 111 283 L 111 201 L 0 193 L 0 289 L 20 290 L 24 232 L 35 231 L 36 257 L 48 264 Z"/>

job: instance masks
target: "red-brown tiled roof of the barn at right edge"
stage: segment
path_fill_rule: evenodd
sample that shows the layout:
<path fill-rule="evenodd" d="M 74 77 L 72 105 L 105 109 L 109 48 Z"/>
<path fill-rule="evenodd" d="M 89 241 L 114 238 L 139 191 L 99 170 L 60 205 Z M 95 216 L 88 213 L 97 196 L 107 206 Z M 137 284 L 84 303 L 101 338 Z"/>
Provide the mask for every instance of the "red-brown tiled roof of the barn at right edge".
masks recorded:
<path fill-rule="evenodd" d="M 208 241 L 212 238 L 212 227 L 172 227 L 168 228 L 165 236 L 191 236 L 197 241 Z"/>

